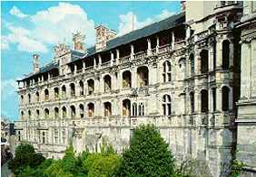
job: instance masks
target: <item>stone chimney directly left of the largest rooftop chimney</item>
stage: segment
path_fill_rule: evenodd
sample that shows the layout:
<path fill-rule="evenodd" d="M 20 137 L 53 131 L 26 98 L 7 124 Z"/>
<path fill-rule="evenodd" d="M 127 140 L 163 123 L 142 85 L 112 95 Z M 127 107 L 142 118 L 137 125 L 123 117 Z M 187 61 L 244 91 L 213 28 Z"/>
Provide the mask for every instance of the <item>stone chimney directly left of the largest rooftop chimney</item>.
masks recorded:
<path fill-rule="evenodd" d="M 86 53 L 84 46 L 85 35 L 81 32 L 73 33 L 73 48 L 74 51 L 80 51 Z"/>

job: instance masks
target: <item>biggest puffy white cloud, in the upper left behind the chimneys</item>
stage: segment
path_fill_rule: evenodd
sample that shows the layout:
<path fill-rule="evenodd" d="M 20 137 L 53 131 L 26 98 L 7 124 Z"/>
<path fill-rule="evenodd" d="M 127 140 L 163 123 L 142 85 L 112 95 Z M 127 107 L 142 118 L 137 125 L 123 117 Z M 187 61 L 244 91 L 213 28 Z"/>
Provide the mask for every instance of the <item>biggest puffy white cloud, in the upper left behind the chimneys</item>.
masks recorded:
<path fill-rule="evenodd" d="M 15 6 L 12 9 L 15 9 L 10 11 L 12 14 L 23 14 Z M 59 3 L 27 17 L 32 29 L 7 24 L 10 33 L 1 44 L 5 47 L 3 49 L 7 49 L 10 43 L 15 43 L 19 51 L 47 52 L 47 47 L 64 40 L 71 44 L 72 33 L 77 31 L 85 34 L 87 46 L 95 43 L 94 21 L 87 18 L 86 12 L 79 5 Z"/>

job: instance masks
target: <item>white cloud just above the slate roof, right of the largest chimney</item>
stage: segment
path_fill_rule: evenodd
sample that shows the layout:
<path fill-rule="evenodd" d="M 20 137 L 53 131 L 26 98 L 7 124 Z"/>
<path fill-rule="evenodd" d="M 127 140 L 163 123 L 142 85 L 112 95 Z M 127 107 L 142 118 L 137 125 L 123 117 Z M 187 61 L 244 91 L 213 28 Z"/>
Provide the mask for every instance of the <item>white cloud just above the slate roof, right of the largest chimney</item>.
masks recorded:
<path fill-rule="evenodd" d="M 162 10 L 161 14 L 157 14 L 152 18 L 147 18 L 142 22 L 138 21 L 136 14 L 133 14 L 133 12 L 129 12 L 127 14 L 120 14 L 119 18 L 121 23 L 119 23 L 118 35 L 123 35 L 125 33 L 132 32 L 133 30 L 143 28 L 150 23 L 161 21 L 162 19 L 171 16 L 172 14 L 174 13 L 168 10 Z"/>

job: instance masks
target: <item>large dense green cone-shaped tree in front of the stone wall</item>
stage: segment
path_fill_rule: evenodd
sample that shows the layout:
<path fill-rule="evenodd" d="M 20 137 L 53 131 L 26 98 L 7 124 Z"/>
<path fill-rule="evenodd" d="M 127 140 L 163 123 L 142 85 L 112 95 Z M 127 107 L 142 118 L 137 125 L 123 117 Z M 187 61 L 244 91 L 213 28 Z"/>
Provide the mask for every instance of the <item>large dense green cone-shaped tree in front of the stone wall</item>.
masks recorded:
<path fill-rule="evenodd" d="M 130 148 L 123 152 L 117 176 L 174 176 L 174 160 L 168 144 L 155 126 L 134 130 Z"/>

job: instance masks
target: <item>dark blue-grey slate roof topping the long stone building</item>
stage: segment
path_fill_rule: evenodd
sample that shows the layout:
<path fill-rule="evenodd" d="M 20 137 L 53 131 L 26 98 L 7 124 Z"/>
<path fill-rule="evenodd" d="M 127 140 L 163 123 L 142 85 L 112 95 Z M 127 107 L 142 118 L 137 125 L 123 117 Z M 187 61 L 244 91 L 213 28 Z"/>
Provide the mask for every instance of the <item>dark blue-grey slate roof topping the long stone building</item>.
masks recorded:
<path fill-rule="evenodd" d="M 114 49 L 118 46 L 136 41 L 138 39 L 153 35 L 154 33 L 159 33 L 164 30 L 171 29 L 175 26 L 181 25 L 185 22 L 185 13 L 181 14 L 174 14 L 160 22 L 149 24 L 141 29 L 135 30 L 131 33 L 124 34 L 123 36 L 119 36 L 114 38 L 113 40 L 110 40 L 106 43 L 106 48 L 103 51 L 109 51 L 111 49 Z M 100 51 L 102 52 L 102 51 Z M 96 53 L 95 46 L 87 49 L 87 55 L 86 56 L 92 56 Z M 85 55 L 82 52 L 79 51 L 72 51 L 72 61 L 78 61 L 84 58 Z M 40 72 L 37 74 L 42 74 L 44 72 L 54 70 L 58 68 L 58 63 L 51 62 L 44 67 L 40 68 Z M 34 76 L 33 73 L 28 75 L 25 79 L 28 79 L 30 77 Z M 25 80 L 22 79 L 22 80 Z"/>

